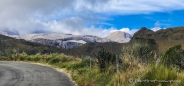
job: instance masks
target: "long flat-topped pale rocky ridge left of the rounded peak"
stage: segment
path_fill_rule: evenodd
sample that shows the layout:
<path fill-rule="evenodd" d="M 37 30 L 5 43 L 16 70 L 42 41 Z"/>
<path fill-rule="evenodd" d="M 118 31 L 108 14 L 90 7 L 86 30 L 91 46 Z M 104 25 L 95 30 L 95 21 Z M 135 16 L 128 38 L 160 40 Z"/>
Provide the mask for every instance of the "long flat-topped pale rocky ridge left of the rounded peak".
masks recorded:
<path fill-rule="evenodd" d="M 89 42 L 112 42 L 110 39 L 100 38 L 97 36 L 72 34 L 29 34 L 22 38 L 27 41 L 65 49 L 75 48 Z"/>

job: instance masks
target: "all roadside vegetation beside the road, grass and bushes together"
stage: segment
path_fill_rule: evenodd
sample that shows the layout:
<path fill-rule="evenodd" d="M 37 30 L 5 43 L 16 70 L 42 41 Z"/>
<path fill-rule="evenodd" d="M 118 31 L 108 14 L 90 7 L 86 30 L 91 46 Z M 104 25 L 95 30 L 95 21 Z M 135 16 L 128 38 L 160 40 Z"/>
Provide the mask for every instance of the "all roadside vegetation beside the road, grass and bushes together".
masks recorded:
<path fill-rule="evenodd" d="M 0 60 L 65 68 L 79 86 L 184 86 L 183 54 L 181 45 L 158 56 L 149 44 L 134 43 L 122 48 L 119 61 L 115 54 L 105 49 L 94 53 L 95 57 L 62 53 L 27 55 L 23 52 L 2 56 Z M 179 71 L 176 66 L 179 66 Z"/>

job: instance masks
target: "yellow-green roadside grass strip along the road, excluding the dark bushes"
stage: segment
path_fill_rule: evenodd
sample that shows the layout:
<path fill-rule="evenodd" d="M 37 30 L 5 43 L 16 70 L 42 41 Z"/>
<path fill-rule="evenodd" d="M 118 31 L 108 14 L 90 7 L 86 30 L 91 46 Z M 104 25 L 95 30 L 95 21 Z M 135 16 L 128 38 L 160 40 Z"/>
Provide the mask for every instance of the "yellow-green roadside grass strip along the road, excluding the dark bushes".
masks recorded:
<path fill-rule="evenodd" d="M 184 71 L 176 72 L 172 68 L 164 67 L 162 64 L 155 67 L 154 62 L 143 65 L 130 55 L 124 55 L 124 60 L 117 73 L 114 66 L 107 71 L 101 72 L 96 59 L 84 57 L 72 57 L 64 54 L 27 55 L 21 53 L 18 56 L 1 57 L 3 61 L 25 61 L 48 64 L 56 68 L 66 69 L 78 86 L 184 86 Z M 139 83 L 136 80 L 180 80 L 180 83 Z M 130 81 L 132 80 L 132 81 Z"/>

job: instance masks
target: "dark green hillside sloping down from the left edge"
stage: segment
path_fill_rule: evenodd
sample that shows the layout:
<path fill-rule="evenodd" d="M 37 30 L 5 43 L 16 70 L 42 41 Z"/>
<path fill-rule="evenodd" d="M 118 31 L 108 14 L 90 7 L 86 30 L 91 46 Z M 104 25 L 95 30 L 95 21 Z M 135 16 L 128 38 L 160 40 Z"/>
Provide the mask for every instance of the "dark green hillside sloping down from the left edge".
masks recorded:
<path fill-rule="evenodd" d="M 26 52 L 27 54 L 63 52 L 57 47 L 50 47 L 39 43 L 28 42 L 23 39 L 15 39 L 0 35 L 0 54 L 11 55 L 13 53 Z"/>

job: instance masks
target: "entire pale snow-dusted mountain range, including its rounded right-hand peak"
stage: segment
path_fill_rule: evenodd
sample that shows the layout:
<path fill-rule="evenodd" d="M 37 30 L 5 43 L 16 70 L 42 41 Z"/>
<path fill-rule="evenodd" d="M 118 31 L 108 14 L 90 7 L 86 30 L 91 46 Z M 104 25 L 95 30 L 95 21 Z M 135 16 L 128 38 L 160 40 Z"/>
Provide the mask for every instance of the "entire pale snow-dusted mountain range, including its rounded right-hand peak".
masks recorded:
<path fill-rule="evenodd" d="M 75 48 L 89 42 L 118 42 L 125 43 L 129 42 L 132 36 L 128 33 L 117 31 L 105 38 L 101 38 L 93 35 L 72 35 L 72 34 L 43 34 L 35 33 L 27 36 L 20 36 L 16 32 L 10 32 L 8 30 L 0 30 L 0 34 L 17 39 L 25 39 L 31 42 L 37 42 L 50 46 L 57 46 L 59 48 Z"/>

